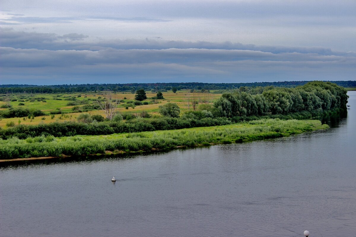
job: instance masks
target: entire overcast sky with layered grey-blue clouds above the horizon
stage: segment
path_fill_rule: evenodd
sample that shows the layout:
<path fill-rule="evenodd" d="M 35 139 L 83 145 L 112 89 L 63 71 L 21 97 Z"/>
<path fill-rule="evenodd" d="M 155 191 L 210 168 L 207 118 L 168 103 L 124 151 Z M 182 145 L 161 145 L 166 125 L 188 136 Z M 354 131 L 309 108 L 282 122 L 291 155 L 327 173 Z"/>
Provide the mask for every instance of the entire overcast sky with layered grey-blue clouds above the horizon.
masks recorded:
<path fill-rule="evenodd" d="M 0 84 L 356 80 L 355 0 L 1 0 Z"/>

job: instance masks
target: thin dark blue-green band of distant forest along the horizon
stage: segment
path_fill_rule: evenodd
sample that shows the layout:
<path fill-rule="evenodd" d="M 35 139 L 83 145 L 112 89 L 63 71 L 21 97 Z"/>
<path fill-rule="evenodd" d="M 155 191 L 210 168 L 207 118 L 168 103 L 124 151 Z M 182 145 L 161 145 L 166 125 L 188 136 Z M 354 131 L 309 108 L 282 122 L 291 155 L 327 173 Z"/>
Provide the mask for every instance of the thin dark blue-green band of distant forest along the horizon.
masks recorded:
<path fill-rule="evenodd" d="M 252 82 L 252 83 L 128 83 L 128 84 L 65 84 L 65 85 L 0 85 L 0 94 L 6 93 L 72 93 L 85 91 L 136 91 L 145 90 L 171 90 L 175 87 L 177 90 L 233 90 L 241 86 L 278 86 L 285 88 L 294 88 L 304 85 L 309 81 L 276 81 L 276 82 Z M 356 87 L 356 81 L 329 81 L 343 87 Z"/>

